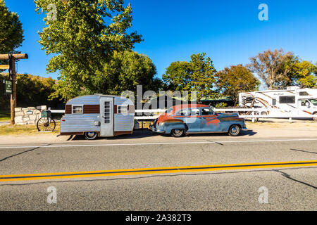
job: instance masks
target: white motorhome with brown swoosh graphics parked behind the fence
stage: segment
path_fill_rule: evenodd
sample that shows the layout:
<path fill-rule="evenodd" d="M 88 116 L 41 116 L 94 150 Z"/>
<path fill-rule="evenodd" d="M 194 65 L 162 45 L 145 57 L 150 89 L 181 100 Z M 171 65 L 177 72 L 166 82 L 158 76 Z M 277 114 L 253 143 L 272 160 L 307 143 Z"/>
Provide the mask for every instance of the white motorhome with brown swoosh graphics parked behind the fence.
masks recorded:
<path fill-rule="evenodd" d="M 259 114 L 272 117 L 316 115 L 313 119 L 317 120 L 317 89 L 290 86 L 286 90 L 242 92 L 239 106 L 254 107 Z"/>

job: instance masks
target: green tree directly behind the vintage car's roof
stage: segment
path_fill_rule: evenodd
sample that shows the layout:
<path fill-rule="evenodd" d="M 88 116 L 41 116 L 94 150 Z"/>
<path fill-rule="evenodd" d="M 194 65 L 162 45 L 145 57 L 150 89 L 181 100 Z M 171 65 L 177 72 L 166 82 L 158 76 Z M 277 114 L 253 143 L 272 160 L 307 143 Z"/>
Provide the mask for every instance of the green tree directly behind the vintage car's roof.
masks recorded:
<path fill-rule="evenodd" d="M 193 54 L 189 62 L 171 63 L 163 75 L 166 87 L 171 91 L 197 91 L 198 101 L 216 97 L 213 89 L 216 69 L 211 58 L 205 56 L 206 53 Z"/>

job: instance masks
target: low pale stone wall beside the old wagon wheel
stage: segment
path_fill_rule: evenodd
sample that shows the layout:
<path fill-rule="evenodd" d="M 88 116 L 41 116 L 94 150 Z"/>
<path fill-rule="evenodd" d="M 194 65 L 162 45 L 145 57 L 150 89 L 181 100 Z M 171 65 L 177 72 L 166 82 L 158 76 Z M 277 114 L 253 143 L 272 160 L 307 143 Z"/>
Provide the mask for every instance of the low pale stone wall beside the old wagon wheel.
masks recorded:
<path fill-rule="evenodd" d="M 36 124 L 41 118 L 41 110 L 46 110 L 46 105 L 27 108 L 15 108 L 15 124 Z"/>

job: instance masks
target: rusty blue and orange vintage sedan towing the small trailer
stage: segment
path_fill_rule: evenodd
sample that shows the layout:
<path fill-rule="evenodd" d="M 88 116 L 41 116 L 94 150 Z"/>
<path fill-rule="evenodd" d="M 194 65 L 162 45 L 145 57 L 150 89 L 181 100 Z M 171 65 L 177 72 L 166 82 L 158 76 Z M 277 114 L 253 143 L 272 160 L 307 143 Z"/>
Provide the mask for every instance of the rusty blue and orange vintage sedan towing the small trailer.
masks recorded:
<path fill-rule="evenodd" d="M 215 113 L 209 105 L 175 105 L 160 115 L 150 126 L 151 131 L 175 137 L 194 133 L 228 133 L 238 136 L 247 129 L 237 113 Z"/>

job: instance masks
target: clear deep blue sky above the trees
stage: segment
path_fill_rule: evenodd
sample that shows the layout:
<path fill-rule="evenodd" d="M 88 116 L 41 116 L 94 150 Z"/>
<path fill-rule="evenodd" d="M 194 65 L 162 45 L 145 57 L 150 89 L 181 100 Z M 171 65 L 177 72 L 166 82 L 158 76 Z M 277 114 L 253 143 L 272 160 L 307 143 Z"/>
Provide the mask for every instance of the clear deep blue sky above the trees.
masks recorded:
<path fill-rule="evenodd" d="M 249 58 L 266 49 L 292 51 L 303 60 L 317 61 L 316 0 L 130 0 L 133 27 L 144 41 L 135 51 L 149 56 L 157 77 L 170 63 L 189 60 L 192 53 L 205 52 L 217 70 L 249 63 Z M 20 51 L 28 60 L 18 62 L 19 73 L 56 79 L 47 74 L 46 56 L 37 43 L 44 22 L 35 13 L 33 0 L 5 0 L 10 11 L 18 13 L 25 30 Z M 260 21 L 260 4 L 268 5 L 268 21 Z"/>

